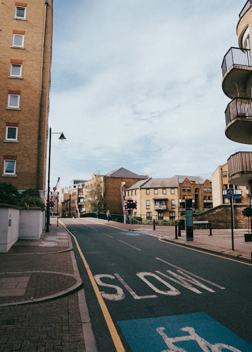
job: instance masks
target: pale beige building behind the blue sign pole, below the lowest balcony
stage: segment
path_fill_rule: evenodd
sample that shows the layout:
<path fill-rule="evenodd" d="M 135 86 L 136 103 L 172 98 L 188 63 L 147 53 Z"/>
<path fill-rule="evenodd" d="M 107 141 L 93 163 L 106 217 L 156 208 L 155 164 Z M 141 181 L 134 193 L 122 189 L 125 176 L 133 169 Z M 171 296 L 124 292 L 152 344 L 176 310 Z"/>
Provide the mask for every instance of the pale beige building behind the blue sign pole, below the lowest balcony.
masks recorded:
<path fill-rule="evenodd" d="M 212 174 L 213 207 L 230 204 L 227 190 L 234 189 L 233 203 L 248 205 L 248 187 L 232 185 L 229 182 L 228 163 L 219 165 Z"/>

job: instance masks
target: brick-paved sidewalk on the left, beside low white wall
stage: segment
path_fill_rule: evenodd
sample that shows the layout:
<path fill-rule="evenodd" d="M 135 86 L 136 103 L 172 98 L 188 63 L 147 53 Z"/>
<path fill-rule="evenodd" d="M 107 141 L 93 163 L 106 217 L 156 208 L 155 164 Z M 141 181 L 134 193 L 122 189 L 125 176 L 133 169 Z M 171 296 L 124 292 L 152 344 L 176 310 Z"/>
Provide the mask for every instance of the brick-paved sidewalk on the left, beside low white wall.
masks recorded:
<path fill-rule="evenodd" d="M 70 235 L 49 229 L 0 253 L 1 351 L 96 351 Z"/>

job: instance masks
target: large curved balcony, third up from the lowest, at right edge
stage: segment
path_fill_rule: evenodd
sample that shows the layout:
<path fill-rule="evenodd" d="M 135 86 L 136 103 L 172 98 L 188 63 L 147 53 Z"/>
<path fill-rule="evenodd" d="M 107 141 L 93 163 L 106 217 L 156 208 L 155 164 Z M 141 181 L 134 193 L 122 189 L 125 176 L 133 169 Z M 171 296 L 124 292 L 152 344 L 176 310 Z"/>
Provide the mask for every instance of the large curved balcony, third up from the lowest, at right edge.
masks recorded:
<path fill-rule="evenodd" d="M 252 60 L 249 49 L 230 48 L 221 65 L 222 90 L 229 98 L 249 98 L 246 94 L 246 81 L 252 73 Z"/>

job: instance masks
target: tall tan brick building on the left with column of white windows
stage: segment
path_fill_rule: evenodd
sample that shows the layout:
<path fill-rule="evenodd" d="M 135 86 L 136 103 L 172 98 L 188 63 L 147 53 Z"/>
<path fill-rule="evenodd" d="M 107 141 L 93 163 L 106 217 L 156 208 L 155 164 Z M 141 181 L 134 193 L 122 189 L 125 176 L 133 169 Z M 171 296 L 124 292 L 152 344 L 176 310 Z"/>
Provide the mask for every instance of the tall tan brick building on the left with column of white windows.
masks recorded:
<path fill-rule="evenodd" d="M 5 0 L 0 13 L 0 182 L 44 198 L 52 0 Z"/>

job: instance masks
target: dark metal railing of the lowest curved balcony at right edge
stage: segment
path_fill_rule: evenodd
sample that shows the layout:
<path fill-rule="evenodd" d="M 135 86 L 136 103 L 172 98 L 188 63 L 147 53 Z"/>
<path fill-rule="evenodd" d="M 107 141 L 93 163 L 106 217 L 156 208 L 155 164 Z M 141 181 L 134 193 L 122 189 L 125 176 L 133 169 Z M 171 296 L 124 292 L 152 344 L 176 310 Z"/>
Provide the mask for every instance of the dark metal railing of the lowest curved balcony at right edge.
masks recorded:
<path fill-rule="evenodd" d="M 252 152 L 239 151 L 228 160 L 229 177 L 237 173 L 252 173 Z"/>

